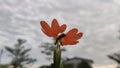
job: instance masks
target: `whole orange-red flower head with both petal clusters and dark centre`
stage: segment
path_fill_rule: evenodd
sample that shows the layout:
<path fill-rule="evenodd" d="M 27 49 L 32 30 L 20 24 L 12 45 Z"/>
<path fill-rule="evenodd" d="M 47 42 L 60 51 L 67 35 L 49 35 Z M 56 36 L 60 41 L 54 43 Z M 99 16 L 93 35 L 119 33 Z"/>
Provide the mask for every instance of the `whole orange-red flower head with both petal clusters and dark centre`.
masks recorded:
<path fill-rule="evenodd" d="M 66 34 L 63 32 L 66 30 L 66 24 L 59 25 L 56 19 L 53 19 L 51 27 L 45 22 L 40 22 L 42 26 L 42 31 L 49 37 L 56 39 L 55 43 L 60 41 L 61 45 L 75 45 L 79 39 L 83 36 L 82 32 L 78 32 L 77 28 L 73 28 L 68 31 Z"/>

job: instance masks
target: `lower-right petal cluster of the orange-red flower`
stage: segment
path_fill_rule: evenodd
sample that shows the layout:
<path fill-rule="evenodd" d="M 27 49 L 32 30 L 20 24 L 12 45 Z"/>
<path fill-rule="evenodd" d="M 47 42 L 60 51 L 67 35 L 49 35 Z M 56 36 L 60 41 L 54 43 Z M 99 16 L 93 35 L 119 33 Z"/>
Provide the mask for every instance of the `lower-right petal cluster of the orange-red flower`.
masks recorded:
<path fill-rule="evenodd" d="M 83 36 L 82 32 L 78 33 L 78 29 L 73 28 L 66 33 L 65 37 L 61 39 L 61 44 L 62 45 L 75 45 L 79 42 L 78 39 L 80 39 L 82 36 Z"/>

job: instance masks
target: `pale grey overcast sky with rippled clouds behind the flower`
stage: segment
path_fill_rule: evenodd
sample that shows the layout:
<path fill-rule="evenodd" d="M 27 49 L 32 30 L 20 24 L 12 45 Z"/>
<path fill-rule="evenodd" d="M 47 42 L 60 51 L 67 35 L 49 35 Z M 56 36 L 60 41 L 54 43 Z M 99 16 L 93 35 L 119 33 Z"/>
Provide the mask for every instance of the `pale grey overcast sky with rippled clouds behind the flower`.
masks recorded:
<path fill-rule="evenodd" d="M 78 28 L 83 37 L 75 46 L 65 46 L 66 57 L 84 57 L 94 64 L 115 64 L 107 55 L 120 50 L 120 0 L 0 0 L 0 49 L 13 47 L 18 38 L 27 40 L 36 64 L 50 64 L 40 52 L 40 44 L 51 42 L 39 22 L 56 18 L 67 30 Z M 38 54 L 39 53 L 39 54 Z M 2 63 L 10 58 L 7 52 Z M 43 62 L 45 61 L 45 62 Z"/>

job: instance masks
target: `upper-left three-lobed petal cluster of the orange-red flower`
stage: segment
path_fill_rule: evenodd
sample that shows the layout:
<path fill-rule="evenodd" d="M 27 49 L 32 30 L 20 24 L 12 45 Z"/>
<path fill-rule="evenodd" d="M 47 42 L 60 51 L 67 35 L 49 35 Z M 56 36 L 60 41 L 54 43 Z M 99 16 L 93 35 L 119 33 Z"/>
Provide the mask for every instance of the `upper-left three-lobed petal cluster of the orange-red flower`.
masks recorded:
<path fill-rule="evenodd" d="M 54 37 L 56 38 L 59 33 L 62 33 L 66 30 L 66 24 L 59 25 L 56 19 L 53 19 L 51 27 L 45 22 L 41 21 L 40 22 L 42 26 L 42 31 L 49 37 Z"/>

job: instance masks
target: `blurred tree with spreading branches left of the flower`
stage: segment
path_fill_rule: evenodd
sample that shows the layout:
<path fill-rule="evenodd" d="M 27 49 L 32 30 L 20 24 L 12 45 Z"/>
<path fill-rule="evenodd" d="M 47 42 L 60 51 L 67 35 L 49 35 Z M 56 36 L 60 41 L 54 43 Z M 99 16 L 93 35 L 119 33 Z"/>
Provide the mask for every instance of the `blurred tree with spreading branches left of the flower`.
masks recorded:
<path fill-rule="evenodd" d="M 26 49 L 22 46 L 26 40 L 18 39 L 17 44 L 14 45 L 14 48 L 5 46 L 5 49 L 11 53 L 9 56 L 12 57 L 11 65 L 16 67 L 23 67 L 24 64 L 34 63 L 36 59 L 30 58 L 28 52 L 31 51 L 31 48 Z"/>

